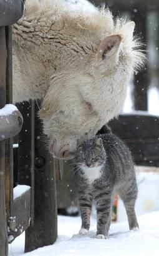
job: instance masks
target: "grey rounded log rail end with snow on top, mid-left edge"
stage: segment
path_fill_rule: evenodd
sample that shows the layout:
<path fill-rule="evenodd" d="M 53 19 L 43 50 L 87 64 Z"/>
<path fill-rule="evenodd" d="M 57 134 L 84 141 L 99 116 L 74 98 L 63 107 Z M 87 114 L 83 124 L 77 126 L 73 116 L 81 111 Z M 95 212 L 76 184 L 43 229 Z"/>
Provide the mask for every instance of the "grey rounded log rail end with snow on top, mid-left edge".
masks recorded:
<path fill-rule="evenodd" d="M 0 140 L 13 137 L 21 131 L 22 128 L 22 115 L 21 112 L 15 110 L 12 114 L 1 114 L 5 111 L 7 106 L 0 110 Z"/>

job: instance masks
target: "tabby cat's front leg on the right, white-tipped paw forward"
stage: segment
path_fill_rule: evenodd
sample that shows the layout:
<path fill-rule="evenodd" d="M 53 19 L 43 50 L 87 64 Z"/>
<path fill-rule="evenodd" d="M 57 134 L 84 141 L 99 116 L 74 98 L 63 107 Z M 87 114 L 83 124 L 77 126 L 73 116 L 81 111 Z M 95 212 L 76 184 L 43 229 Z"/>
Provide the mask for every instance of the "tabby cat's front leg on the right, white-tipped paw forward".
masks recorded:
<path fill-rule="evenodd" d="M 97 201 L 97 239 L 106 239 L 110 227 L 111 197 Z"/>

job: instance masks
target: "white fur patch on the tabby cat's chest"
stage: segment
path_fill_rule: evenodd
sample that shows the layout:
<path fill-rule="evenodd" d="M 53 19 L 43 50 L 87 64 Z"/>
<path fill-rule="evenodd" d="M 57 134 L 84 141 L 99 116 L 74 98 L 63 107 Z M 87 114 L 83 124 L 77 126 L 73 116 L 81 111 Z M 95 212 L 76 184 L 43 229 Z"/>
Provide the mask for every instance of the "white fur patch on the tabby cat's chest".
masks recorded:
<path fill-rule="evenodd" d="M 102 172 L 100 171 L 102 166 L 99 167 L 83 167 L 85 177 L 89 180 L 89 183 L 94 182 L 94 180 L 99 179 Z"/>

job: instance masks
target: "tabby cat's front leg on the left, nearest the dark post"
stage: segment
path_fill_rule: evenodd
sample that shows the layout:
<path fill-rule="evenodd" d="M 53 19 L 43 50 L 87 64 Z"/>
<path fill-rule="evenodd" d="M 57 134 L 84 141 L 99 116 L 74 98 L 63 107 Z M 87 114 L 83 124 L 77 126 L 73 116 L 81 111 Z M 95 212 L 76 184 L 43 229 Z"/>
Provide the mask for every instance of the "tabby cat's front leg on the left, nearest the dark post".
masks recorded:
<path fill-rule="evenodd" d="M 79 235 L 86 235 L 90 228 L 90 212 L 92 208 L 92 199 L 90 195 L 80 195 L 79 205 L 82 218 L 82 226 L 79 230 Z"/>

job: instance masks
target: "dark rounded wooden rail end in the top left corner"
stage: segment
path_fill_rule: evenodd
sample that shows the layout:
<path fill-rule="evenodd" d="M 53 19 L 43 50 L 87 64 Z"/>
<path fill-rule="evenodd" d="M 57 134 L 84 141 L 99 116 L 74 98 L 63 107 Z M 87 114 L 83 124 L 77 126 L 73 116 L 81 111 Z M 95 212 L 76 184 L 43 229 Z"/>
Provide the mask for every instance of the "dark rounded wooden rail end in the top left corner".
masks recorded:
<path fill-rule="evenodd" d="M 14 24 L 22 16 L 24 1 L 0 0 L 0 26 Z"/>

